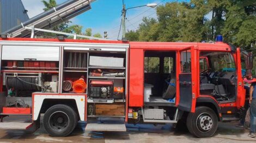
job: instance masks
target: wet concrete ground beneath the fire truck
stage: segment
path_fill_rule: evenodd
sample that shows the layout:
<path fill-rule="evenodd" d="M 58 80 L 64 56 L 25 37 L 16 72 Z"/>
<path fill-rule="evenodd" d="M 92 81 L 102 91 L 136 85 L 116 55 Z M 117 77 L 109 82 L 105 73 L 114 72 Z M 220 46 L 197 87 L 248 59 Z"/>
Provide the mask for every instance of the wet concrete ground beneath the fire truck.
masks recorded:
<path fill-rule="evenodd" d="M 50 137 L 41 125 L 36 132 L 21 130 L 3 130 L 0 129 L 0 142 L 195 142 L 195 143 L 251 143 L 256 142 L 256 138 L 249 138 L 249 130 L 246 128 L 235 127 L 233 123 L 219 123 L 216 134 L 211 138 L 199 139 L 193 137 L 188 132 L 177 132 L 172 129 L 172 125 L 133 125 L 127 124 L 126 132 L 98 132 L 85 131 L 86 122 L 78 122 L 75 131 L 65 138 Z"/>

